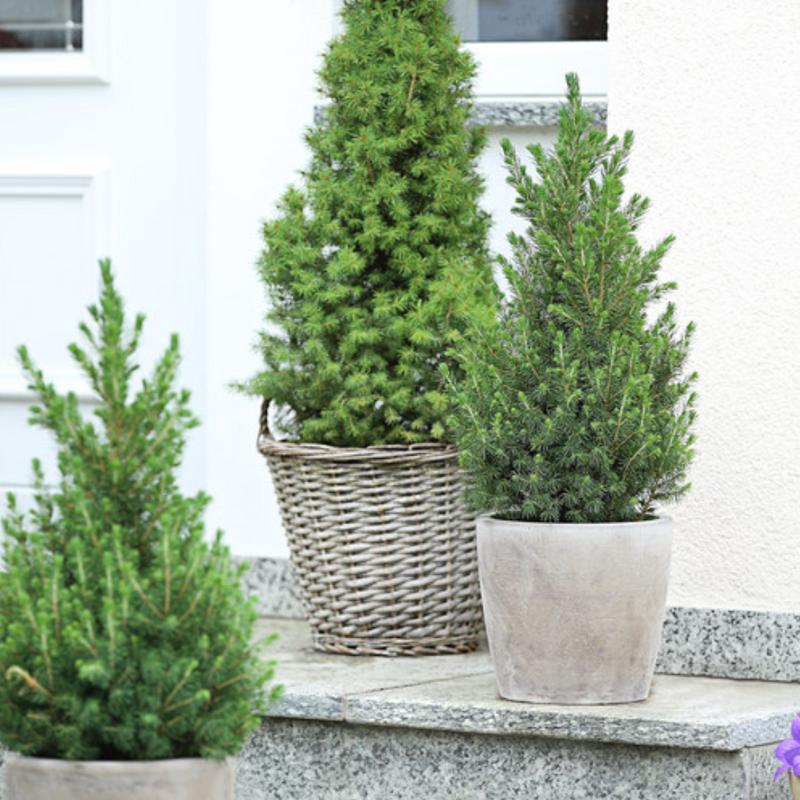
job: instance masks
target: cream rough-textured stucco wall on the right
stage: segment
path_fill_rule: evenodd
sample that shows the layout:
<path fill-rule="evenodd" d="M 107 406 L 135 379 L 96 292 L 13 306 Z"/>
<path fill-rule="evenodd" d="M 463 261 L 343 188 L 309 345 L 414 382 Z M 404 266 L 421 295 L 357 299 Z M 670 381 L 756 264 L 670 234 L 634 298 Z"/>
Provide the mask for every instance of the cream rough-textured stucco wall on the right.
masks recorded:
<path fill-rule="evenodd" d="M 609 6 L 609 129 L 698 325 L 670 603 L 800 612 L 800 3 Z"/>

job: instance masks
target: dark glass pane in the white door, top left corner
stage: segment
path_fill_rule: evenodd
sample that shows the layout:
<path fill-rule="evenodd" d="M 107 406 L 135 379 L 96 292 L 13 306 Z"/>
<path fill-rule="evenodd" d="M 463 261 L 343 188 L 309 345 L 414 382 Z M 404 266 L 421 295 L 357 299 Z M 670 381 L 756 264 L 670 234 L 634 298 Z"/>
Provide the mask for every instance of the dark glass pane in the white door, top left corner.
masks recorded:
<path fill-rule="evenodd" d="M 0 0 L 0 50 L 82 50 L 83 0 Z"/>

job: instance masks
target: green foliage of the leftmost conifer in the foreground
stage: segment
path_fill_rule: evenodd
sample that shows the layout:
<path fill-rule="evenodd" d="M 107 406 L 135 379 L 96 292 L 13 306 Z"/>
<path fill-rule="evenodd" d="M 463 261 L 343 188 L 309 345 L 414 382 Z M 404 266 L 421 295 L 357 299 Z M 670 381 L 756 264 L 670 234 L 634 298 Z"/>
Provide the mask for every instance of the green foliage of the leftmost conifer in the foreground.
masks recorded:
<path fill-rule="evenodd" d="M 173 337 L 133 392 L 143 317 L 126 330 L 109 262 L 70 352 L 96 394 L 95 420 L 19 349 L 38 396 L 31 423 L 58 446 L 60 481 L 34 462 L 33 509 L 9 495 L 0 573 L 0 742 L 70 760 L 221 758 L 236 753 L 275 690 L 251 637 L 256 611 L 221 534 L 204 541 L 208 498 L 175 470 L 197 425 L 174 388 Z"/>

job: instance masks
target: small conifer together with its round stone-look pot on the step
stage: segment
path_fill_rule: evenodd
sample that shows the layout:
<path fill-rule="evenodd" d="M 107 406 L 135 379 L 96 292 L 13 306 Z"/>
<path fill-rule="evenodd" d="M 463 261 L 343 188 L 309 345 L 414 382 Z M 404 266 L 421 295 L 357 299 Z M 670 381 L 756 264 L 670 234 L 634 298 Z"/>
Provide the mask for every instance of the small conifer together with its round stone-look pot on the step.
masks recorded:
<path fill-rule="evenodd" d="M 647 696 L 661 635 L 671 523 L 686 492 L 692 325 L 657 304 L 667 237 L 643 249 L 626 199 L 633 136 L 592 126 L 577 77 L 537 177 L 503 149 L 515 212 L 501 324 L 458 353 L 455 426 L 478 521 L 500 694 L 532 702 Z"/>

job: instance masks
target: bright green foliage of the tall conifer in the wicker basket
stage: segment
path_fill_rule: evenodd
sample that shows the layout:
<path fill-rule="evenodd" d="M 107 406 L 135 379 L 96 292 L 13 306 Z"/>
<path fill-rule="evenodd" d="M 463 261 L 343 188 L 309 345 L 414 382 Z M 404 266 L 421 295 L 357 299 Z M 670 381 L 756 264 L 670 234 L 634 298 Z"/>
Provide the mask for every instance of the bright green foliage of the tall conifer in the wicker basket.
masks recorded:
<path fill-rule="evenodd" d="M 298 441 L 447 440 L 440 364 L 495 318 L 475 67 L 444 5 L 345 2 L 310 168 L 264 225 L 265 370 L 239 388 L 283 408 Z"/>

